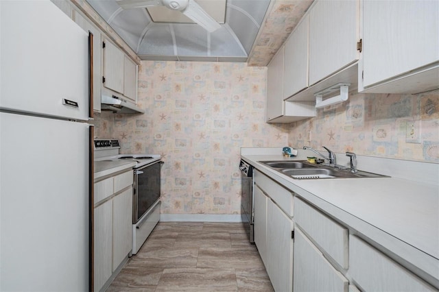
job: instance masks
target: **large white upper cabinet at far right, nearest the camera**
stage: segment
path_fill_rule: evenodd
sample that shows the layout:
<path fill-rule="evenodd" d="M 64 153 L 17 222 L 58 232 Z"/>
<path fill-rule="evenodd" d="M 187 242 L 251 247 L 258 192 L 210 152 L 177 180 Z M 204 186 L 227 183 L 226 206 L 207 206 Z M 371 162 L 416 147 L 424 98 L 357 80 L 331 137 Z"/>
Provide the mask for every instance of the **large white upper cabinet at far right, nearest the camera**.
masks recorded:
<path fill-rule="evenodd" d="M 362 39 L 359 90 L 419 93 L 439 87 L 439 1 L 365 0 Z"/>

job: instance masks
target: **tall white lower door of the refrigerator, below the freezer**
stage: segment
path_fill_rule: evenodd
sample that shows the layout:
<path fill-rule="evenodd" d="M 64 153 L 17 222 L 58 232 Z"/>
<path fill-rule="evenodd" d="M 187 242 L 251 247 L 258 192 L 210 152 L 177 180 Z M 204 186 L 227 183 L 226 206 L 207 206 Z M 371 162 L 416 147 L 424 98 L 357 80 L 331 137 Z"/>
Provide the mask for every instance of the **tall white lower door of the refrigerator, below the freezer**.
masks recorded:
<path fill-rule="evenodd" d="M 0 112 L 0 291 L 88 291 L 89 127 Z"/>

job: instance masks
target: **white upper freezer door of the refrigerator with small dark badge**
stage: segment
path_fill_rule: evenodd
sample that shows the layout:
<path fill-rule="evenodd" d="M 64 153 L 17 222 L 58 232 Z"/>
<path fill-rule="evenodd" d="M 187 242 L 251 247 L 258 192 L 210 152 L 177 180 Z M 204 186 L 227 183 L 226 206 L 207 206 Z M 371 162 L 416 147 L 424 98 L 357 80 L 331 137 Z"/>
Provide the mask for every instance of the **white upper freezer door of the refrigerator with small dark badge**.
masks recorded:
<path fill-rule="evenodd" d="M 0 30 L 0 108 L 88 120 L 88 34 L 49 0 L 0 1 Z"/>

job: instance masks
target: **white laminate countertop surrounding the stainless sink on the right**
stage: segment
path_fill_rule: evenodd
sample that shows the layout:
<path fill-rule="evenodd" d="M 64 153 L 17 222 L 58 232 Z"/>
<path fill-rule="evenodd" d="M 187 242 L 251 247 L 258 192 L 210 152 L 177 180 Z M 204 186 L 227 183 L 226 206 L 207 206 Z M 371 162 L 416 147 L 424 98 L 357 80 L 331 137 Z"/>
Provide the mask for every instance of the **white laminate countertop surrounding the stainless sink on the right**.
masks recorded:
<path fill-rule="evenodd" d="M 262 165 L 294 160 L 281 155 L 241 155 L 283 184 L 361 234 L 377 248 L 439 283 L 439 186 L 402 178 L 296 180 Z M 300 159 L 296 159 L 300 160 Z"/>

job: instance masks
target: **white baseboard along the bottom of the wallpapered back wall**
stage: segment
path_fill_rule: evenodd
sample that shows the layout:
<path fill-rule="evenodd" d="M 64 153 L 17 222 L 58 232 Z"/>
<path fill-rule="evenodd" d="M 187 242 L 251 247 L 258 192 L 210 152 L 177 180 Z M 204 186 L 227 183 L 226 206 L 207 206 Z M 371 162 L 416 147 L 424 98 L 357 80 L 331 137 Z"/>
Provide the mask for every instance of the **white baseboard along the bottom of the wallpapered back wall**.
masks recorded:
<path fill-rule="evenodd" d="M 217 215 L 217 214 L 161 214 L 160 221 L 184 221 L 184 222 L 242 222 L 241 215 Z"/>

